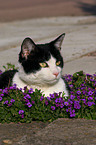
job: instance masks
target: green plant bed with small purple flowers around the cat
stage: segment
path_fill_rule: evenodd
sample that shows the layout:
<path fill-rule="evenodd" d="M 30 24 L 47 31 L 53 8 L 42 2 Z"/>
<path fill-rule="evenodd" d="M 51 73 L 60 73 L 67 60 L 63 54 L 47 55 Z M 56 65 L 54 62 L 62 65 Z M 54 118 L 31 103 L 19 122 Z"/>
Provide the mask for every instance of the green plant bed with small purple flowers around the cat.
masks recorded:
<path fill-rule="evenodd" d="M 2 71 L 1 71 L 2 73 Z M 57 118 L 96 119 L 96 74 L 83 71 L 65 75 L 69 97 L 64 93 L 42 95 L 41 90 L 18 89 L 16 84 L 0 89 L 0 123 L 49 121 Z"/>

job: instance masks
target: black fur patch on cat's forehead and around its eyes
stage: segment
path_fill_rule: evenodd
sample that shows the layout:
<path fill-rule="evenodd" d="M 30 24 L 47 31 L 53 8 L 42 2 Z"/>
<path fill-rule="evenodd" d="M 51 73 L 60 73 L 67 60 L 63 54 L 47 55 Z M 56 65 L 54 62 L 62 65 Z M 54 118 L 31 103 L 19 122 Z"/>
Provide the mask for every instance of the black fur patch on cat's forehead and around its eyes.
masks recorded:
<path fill-rule="evenodd" d="M 60 67 L 63 68 L 63 58 L 60 51 L 55 48 L 53 43 L 35 45 L 35 50 L 30 52 L 27 60 L 22 58 L 22 52 L 20 52 L 19 62 L 22 64 L 26 73 L 35 73 L 41 69 L 39 63 L 48 61 L 51 58 L 51 55 L 56 61 L 61 62 Z"/>

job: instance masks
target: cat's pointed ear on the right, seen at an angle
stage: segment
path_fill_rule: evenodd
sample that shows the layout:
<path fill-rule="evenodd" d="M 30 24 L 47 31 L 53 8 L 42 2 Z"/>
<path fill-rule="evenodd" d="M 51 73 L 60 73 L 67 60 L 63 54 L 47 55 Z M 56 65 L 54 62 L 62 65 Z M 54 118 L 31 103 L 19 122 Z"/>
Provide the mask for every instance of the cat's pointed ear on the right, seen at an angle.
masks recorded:
<path fill-rule="evenodd" d="M 57 37 L 52 43 L 53 45 L 60 51 L 61 50 L 61 45 L 64 40 L 65 33 L 61 34 L 59 37 Z"/>

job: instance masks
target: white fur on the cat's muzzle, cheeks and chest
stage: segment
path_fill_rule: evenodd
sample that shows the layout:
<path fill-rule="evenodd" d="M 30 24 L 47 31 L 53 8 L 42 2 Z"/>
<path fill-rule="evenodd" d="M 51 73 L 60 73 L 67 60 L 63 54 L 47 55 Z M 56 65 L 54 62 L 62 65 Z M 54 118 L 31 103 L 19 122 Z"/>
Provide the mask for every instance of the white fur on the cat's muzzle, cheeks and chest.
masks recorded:
<path fill-rule="evenodd" d="M 20 65 L 19 72 L 17 72 L 13 78 L 13 84 L 17 84 L 18 88 L 33 88 L 33 90 L 41 89 L 45 94 L 45 97 L 54 92 L 64 92 L 65 96 L 68 96 L 64 80 L 61 78 L 62 70 L 56 66 L 56 59 L 51 56 L 51 59 L 47 61 L 49 67 L 42 68 L 36 73 L 26 74 L 23 67 Z M 56 77 L 54 73 L 59 73 Z"/>

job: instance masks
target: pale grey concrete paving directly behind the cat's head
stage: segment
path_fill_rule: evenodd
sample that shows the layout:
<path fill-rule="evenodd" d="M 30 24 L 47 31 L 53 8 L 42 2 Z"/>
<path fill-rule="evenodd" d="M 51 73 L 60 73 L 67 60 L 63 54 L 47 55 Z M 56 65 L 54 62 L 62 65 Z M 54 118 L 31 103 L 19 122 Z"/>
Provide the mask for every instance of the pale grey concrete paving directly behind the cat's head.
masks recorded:
<path fill-rule="evenodd" d="M 65 66 L 63 74 L 73 74 L 83 70 L 96 72 L 96 17 L 51 17 L 0 23 L 0 69 L 6 63 L 17 66 L 20 46 L 25 37 L 36 43 L 46 43 L 66 33 L 62 45 Z"/>

